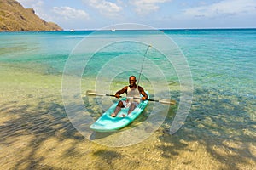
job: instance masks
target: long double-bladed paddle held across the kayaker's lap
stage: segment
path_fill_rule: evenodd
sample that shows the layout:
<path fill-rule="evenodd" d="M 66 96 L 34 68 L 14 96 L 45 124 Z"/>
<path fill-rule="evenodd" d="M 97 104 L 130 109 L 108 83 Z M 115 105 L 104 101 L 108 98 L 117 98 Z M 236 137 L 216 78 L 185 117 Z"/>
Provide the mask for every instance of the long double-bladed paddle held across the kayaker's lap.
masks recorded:
<path fill-rule="evenodd" d="M 111 96 L 111 97 L 115 97 L 115 95 L 113 95 L 113 94 L 100 94 L 100 93 L 96 93 L 93 90 L 87 90 L 86 94 L 87 95 L 94 95 L 94 96 Z M 141 98 L 136 98 L 136 97 L 127 97 L 127 98 L 128 99 L 141 99 Z M 148 101 L 159 102 L 161 104 L 166 104 L 166 105 L 176 105 L 176 101 L 174 99 L 147 99 L 147 100 Z"/>

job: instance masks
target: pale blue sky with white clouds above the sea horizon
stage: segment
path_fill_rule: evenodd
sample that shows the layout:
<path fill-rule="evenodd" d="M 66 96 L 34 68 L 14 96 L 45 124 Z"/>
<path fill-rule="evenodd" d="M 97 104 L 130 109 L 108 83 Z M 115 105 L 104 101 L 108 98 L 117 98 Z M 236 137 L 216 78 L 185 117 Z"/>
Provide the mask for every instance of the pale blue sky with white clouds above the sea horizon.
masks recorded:
<path fill-rule="evenodd" d="M 154 28 L 256 28 L 256 0 L 17 0 L 65 30 L 120 23 Z"/>

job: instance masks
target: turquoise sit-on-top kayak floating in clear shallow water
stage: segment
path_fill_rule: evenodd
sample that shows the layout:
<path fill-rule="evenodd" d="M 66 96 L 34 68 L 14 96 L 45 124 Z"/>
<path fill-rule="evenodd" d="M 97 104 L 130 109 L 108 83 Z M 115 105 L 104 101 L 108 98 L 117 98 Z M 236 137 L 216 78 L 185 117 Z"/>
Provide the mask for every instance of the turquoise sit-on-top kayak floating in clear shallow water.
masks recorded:
<path fill-rule="evenodd" d="M 146 92 L 146 94 L 148 94 L 148 91 Z M 121 100 L 125 99 L 126 98 L 122 98 Z M 118 102 L 113 104 L 108 109 L 108 111 L 103 113 L 103 115 L 98 120 L 96 120 L 96 122 L 90 125 L 90 129 L 96 132 L 113 132 L 119 130 L 122 127 L 126 127 L 143 112 L 143 110 L 148 105 L 148 100 L 141 101 L 141 103 L 138 104 L 137 107 L 133 111 L 131 111 L 129 115 L 127 115 L 129 108 L 122 108 L 117 116 L 112 117 L 110 115 L 115 110 L 116 105 L 118 105 Z M 122 115 L 125 115 L 125 117 L 122 117 Z"/>

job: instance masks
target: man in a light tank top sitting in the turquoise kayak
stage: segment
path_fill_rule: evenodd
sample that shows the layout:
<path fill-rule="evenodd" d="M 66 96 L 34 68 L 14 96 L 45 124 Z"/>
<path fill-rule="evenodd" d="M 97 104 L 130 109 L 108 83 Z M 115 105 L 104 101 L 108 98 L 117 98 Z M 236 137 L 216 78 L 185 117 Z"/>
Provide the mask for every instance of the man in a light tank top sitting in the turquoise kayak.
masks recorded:
<path fill-rule="evenodd" d="M 129 77 L 129 86 L 125 86 L 121 90 L 119 90 L 116 94 L 115 97 L 119 98 L 120 94 L 126 94 L 127 100 L 120 100 L 118 105 L 116 106 L 114 112 L 111 114 L 111 116 L 115 117 L 121 111 L 121 108 L 124 107 L 129 107 L 128 115 L 133 111 L 137 105 L 140 103 L 140 99 L 132 99 L 132 97 L 136 98 L 141 98 L 141 95 L 143 97 L 141 98 L 142 100 L 148 99 L 148 95 L 145 93 L 144 89 L 136 84 L 136 77 L 131 76 Z M 131 97 L 131 99 L 129 99 Z M 124 116 L 124 115 L 123 115 Z"/>

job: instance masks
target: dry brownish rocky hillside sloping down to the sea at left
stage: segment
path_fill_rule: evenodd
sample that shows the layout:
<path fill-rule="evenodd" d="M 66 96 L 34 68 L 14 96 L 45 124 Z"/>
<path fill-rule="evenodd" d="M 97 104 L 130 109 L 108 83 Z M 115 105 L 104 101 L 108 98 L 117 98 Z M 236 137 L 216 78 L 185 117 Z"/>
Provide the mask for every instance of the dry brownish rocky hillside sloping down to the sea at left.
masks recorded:
<path fill-rule="evenodd" d="M 23 8 L 15 0 L 0 0 L 0 31 L 61 31 L 53 22 L 46 22 L 32 8 Z"/>

